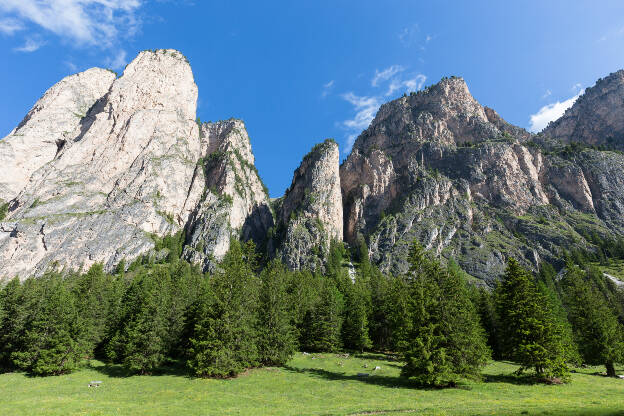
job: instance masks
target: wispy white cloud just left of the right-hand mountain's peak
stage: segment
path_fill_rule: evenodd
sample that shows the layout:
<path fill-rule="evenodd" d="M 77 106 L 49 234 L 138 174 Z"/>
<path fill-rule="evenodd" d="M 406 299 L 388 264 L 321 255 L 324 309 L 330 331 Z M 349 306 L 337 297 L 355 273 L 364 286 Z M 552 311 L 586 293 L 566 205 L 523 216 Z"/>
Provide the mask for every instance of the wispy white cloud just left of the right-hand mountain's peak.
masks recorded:
<path fill-rule="evenodd" d="M 360 132 L 366 129 L 375 118 L 377 110 L 388 96 L 397 91 L 417 91 L 421 89 L 427 79 L 423 74 L 405 76 L 406 68 L 401 65 L 392 65 L 382 71 L 376 70 L 371 80 L 374 87 L 373 94 L 358 95 L 354 92 L 342 94 L 341 97 L 353 106 L 354 116 L 344 120 L 340 126 L 346 131 L 346 143 L 343 148 L 345 154 L 351 152 L 355 139 Z M 380 91 L 384 88 L 384 90 Z"/>

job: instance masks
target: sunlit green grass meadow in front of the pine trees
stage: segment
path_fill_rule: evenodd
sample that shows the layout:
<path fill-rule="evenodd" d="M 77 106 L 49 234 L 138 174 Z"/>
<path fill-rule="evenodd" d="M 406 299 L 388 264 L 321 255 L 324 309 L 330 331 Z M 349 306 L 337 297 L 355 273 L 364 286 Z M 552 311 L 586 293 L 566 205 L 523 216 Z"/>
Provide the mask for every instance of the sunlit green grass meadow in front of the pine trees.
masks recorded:
<path fill-rule="evenodd" d="M 375 366 L 381 370 L 373 371 Z M 66 376 L 0 375 L 0 414 L 624 415 L 624 380 L 602 377 L 598 367 L 572 374 L 570 384 L 551 386 L 527 384 L 511 376 L 516 366 L 493 362 L 483 382 L 449 389 L 413 388 L 398 377 L 399 367 L 383 356 L 298 354 L 286 368 L 206 380 L 173 369 L 127 376 L 118 366 L 92 361 Z M 362 378 L 359 372 L 375 375 Z M 87 387 L 96 380 L 101 387 Z"/>

